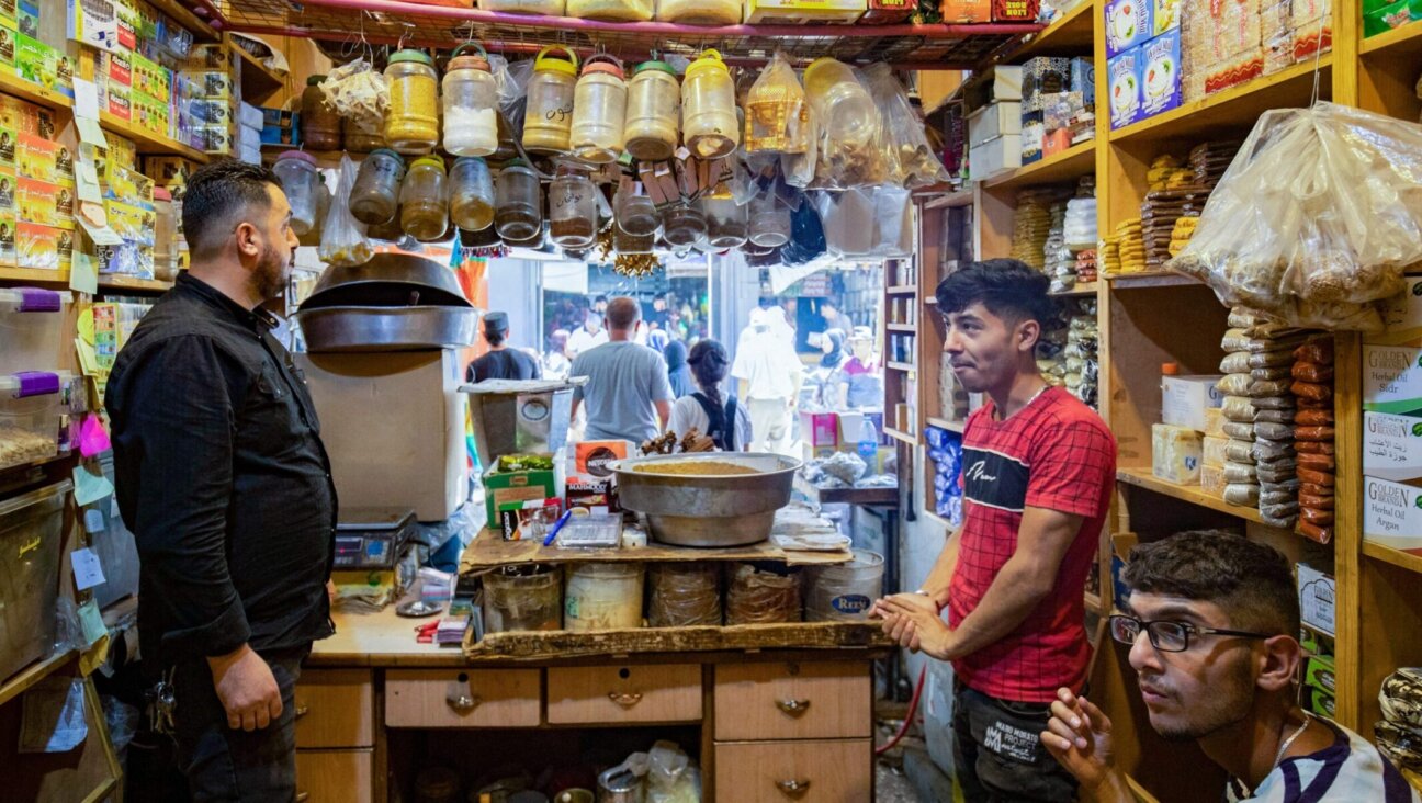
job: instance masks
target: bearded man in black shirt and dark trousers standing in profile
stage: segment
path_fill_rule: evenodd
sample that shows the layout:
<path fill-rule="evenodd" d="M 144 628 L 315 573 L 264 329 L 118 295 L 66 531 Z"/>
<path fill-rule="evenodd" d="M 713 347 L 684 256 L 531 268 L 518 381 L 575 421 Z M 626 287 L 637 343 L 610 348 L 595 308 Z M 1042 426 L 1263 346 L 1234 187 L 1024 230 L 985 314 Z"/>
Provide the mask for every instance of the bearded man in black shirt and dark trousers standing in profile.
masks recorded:
<path fill-rule="evenodd" d="M 297 244 L 272 173 L 216 162 L 188 180 L 192 269 L 114 365 L 117 496 L 142 561 L 145 669 L 171 678 L 192 794 L 290 799 L 292 689 L 333 632 L 336 489 L 316 408 L 262 303 Z"/>

